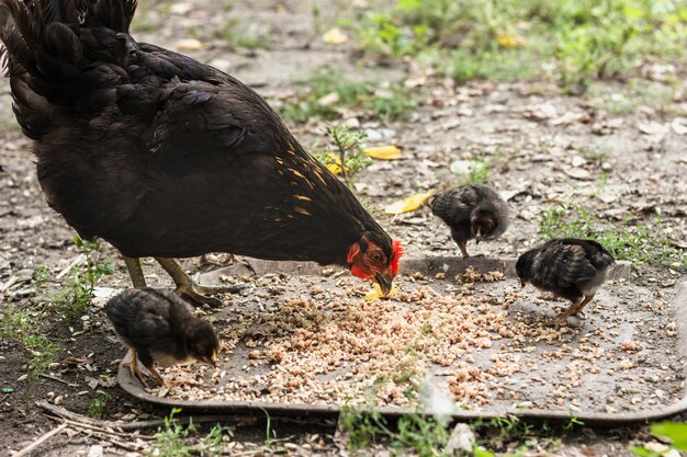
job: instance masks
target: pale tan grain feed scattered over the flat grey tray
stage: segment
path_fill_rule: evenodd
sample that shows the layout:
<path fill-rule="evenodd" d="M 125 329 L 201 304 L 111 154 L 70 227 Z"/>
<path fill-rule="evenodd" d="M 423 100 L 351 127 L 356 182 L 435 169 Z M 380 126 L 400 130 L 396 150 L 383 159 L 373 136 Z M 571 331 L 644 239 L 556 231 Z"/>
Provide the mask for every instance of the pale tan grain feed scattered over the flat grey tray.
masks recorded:
<path fill-rule="evenodd" d="M 416 408 L 427 392 L 458 409 L 520 407 L 621 412 L 684 395 L 683 358 L 666 302 L 619 281 L 571 328 L 567 302 L 499 272 L 399 277 L 388 300 L 351 277 L 268 274 L 207 310 L 219 366 L 164 372 L 169 400 Z M 622 298 L 619 298 L 622 297 Z"/>

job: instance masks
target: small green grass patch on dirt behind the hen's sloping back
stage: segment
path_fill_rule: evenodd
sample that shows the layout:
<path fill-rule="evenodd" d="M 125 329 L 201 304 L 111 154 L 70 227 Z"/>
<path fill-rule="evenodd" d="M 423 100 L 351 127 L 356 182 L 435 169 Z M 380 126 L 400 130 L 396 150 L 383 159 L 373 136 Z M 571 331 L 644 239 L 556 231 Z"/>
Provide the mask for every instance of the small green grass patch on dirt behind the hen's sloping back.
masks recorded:
<path fill-rule="evenodd" d="M 311 117 L 335 119 L 344 108 L 360 108 L 382 121 L 403 118 L 417 105 L 412 93 L 401 83 L 380 88 L 375 82 L 353 81 L 340 71 L 320 69 L 305 81 L 295 96 L 284 101 L 280 114 L 291 121 L 305 122 Z M 324 98 L 334 98 L 327 102 Z"/>

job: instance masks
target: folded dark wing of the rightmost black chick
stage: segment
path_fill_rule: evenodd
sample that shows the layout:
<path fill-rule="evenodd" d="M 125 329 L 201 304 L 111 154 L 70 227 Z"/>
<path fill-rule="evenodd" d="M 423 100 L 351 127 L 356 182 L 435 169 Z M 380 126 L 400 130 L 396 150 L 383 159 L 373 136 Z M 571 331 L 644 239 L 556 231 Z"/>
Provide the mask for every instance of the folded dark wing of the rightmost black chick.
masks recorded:
<path fill-rule="evenodd" d="M 544 247 L 538 263 L 533 270 L 540 272 L 542 279 L 560 287 L 588 281 L 596 275 L 584 248 L 577 244 L 551 243 Z"/>

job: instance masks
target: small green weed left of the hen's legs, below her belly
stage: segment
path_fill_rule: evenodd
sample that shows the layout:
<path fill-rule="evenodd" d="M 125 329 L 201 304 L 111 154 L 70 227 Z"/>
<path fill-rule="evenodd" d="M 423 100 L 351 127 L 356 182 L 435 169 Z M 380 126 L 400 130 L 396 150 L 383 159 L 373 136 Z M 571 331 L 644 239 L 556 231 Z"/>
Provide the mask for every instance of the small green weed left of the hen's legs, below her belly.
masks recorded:
<path fill-rule="evenodd" d="M 86 255 L 85 265 L 72 266 L 67 279 L 60 287 L 56 292 L 47 294 L 59 312 L 70 321 L 90 308 L 98 279 L 112 274 L 114 271 L 112 263 L 92 260 L 93 253 L 100 249 L 97 242 L 75 237 L 74 243 Z"/>

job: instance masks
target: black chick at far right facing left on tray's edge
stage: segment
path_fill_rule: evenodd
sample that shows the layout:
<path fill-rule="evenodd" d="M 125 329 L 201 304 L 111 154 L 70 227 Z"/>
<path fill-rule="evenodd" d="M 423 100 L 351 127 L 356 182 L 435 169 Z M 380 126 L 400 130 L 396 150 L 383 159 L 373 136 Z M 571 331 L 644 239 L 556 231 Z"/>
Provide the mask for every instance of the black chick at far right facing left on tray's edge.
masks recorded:
<path fill-rule="evenodd" d="M 556 327 L 560 327 L 567 325 L 568 317 L 582 313 L 615 263 L 612 255 L 598 242 L 564 238 L 548 241 L 520 255 L 516 271 L 523 287 L 529 282 L 573 302 L 556 319 Z"/>

